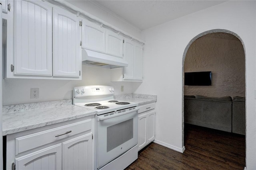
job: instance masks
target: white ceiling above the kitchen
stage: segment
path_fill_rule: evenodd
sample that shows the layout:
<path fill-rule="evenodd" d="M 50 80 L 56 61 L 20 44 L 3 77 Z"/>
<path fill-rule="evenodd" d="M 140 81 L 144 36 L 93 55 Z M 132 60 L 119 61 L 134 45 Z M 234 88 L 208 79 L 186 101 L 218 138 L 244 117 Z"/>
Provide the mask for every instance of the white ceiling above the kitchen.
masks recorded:
<path fill-rule="evenodd" d="M 112 15 L 144 30 L 226 0 L 91 0 Z"/>

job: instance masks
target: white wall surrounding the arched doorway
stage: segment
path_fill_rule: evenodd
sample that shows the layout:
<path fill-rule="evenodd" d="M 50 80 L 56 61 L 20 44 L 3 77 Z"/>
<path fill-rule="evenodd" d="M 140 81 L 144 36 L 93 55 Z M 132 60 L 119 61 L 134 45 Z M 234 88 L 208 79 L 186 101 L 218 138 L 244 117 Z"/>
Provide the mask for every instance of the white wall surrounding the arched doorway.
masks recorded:
<path fill-rule="evenodd" d="M 200 33 L 227 29 L 242 39 L 246 53 L 246 167 L 256 169 L 255 1 L 228 1 L 142 31 L 144 82 L 135 93 L 157 95 L 156 141 L 182 150 L 182 57 Z M 185 146 L 186 147 L 186 146 Z"/>

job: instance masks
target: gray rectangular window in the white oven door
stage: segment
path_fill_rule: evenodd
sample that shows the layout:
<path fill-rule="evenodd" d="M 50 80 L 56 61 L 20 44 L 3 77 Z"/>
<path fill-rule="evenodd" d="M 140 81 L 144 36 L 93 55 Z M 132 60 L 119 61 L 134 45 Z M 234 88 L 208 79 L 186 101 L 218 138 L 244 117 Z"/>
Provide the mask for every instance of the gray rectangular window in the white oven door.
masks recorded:
<path fill-rule="evenodd" d="M 133 119 L 107 127 L 107 152 L 133 138 Z"/>

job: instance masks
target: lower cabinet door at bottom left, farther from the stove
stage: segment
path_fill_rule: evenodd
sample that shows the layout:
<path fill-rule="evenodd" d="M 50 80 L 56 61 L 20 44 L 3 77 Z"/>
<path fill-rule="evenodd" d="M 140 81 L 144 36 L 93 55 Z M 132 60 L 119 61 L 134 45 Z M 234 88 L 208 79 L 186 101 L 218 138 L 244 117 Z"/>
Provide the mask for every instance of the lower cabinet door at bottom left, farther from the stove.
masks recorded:
<path fill-rule="evenodd" d="M 38 150 L 15 159 L 16 170 L 60 170 L 61 144 Z"/>

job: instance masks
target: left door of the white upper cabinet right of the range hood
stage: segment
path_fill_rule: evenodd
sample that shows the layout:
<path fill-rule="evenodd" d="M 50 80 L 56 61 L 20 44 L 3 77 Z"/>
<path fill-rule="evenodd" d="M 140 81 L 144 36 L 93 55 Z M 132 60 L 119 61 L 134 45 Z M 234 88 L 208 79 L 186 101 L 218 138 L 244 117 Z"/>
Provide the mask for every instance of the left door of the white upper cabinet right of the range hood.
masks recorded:
<path fill-rule="evenodd" d="M 124 80 L 134 80 L 134 42 L 128 39 L 124 43 L 124 59 L 128 63 L 124 67 Z"/>

